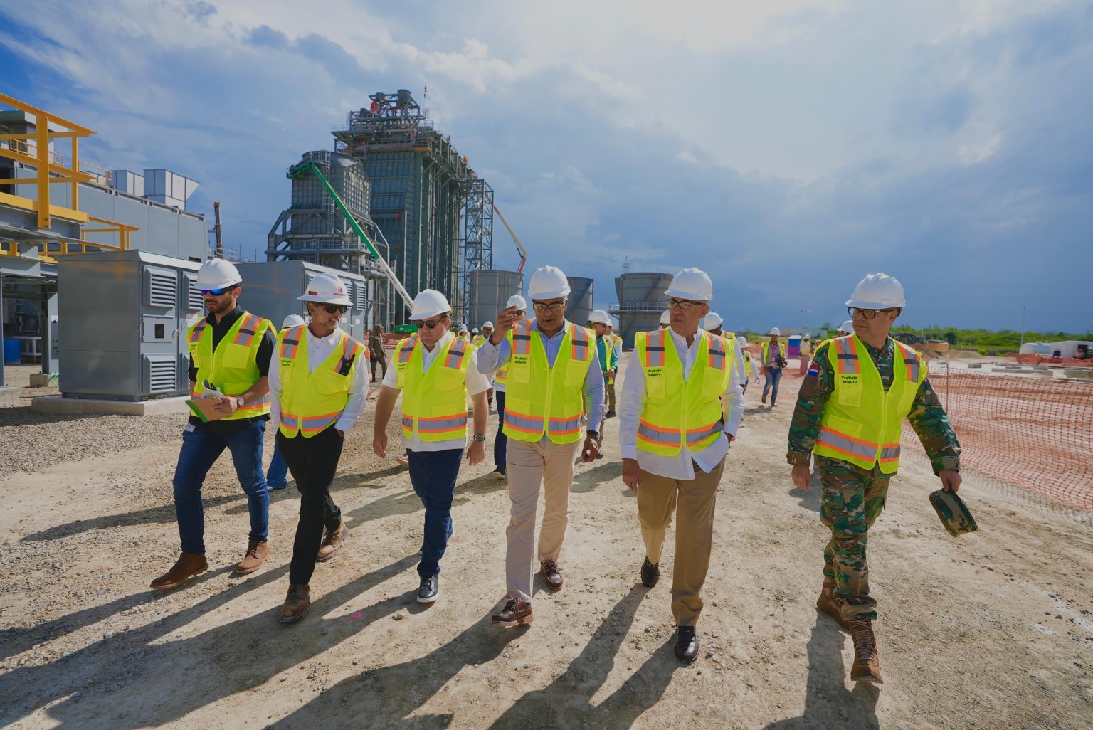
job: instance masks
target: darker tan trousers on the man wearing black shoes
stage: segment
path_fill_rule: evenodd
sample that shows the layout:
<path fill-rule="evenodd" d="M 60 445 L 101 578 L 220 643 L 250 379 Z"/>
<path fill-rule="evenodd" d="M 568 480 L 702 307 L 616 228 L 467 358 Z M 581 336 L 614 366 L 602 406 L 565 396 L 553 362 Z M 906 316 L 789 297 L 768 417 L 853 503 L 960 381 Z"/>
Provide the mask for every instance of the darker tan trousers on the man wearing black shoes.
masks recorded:
<path fill-rule="evenodd" d="M 702 615 L 702 586 L 709 569 L 714 507 L 724 470 L 725 459 L 708 474 L 695 467 L 691 480 L 669 479 L 642 470 L 637 519 L 650 563 L 660 562 L 665 534 L 672 522 L 672 511 L 677 511 L 672 567 L 672 615 L 677 626 L 694 626 Z"/>

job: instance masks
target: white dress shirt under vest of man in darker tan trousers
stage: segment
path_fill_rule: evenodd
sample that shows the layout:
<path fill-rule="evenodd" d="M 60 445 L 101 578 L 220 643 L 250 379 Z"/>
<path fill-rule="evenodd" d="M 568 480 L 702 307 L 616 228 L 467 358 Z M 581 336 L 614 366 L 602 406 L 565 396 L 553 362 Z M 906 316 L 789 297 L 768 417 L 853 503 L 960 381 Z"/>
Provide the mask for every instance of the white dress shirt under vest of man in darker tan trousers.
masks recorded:
<path fill-rule="evenodd" d="M 698 354 L 700 338 L 696 334 L 694 342 L 689 346 L 685 337 L 677 334 L 675 330 L 670 327 L 668 332 L 675 345 L 675 354 L 683 364 L 683 379 L 689 380 L 695 357 Z M 733 357 L 742 357 L 740 346 L 736 342 L 730 343 L 728 340 L 725 342 L 727 345 L 731 344 Z M 619 408 L 619 440 L 621 441 L 622 458 L 637 459 L 638 466 L 645 471 L 668 479 L 694 479 L 694 464 L 698 464 L 698 468 L 708 474 L 729 452 L 729 439 L 725 434 L 736 438 L 737 428 L 740 427 L 740 420 L 743 417 L 744 392 L 740 387 L 740 372 L 736 367 L 729 368 L 729 385 L 725 389 L 725 402 L 728 404 L 728 416 L 721 428 L 721 435 L 701 451 L 691 451 L 685 444 L 675 456 L 663 456 L 638 449 L 637 424 L 642 419 L 642 412 L 645 411 L 645 368 L 636 360 L 631 358 L 630 365 L 626 367 L 626 377 L 622 386 L 622 402 Z"/>

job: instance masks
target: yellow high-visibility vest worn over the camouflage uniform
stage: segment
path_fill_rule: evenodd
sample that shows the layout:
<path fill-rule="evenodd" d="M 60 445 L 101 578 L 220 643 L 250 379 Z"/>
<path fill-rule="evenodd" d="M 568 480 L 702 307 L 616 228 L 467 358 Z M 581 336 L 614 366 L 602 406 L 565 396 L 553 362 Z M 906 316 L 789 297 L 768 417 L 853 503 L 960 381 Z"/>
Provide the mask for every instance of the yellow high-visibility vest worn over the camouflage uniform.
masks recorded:
<path fill-rule="evenodd" d="M 910 413 L 927 367 L 917 352 L 902 342 L 892 343 L 894 375 L 885 391 L 881 374 L 857 334 L 828 341 L 835 390 L 824 405 L 813 454 L 862 469 L 880 464 L 885 474 L 900 468 L 903 420 Z"/>

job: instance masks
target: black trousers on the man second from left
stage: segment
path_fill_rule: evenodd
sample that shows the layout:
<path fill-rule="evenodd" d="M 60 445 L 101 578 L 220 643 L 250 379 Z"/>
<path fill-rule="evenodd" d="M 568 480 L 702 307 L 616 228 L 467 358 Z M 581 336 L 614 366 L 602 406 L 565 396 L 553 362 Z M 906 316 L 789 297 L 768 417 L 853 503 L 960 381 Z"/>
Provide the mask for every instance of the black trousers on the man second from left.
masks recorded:
<path fill-rule="evenodd" d="M 330 483 L 338 471 L 338 460 L 345 439 L 333 426 L 310 438 L 297 434 L 285 438 L 278 431 L 278 446 L 289 464 L 289 471 L 299 490 L 299 521 L 292 543 L 292 567 L 289 582 L 304 585 L 315 573 L 315 557 L 322 544 L 322 528 L 336 530 L 341 525 L 341 510 L 330 496 Z"/>

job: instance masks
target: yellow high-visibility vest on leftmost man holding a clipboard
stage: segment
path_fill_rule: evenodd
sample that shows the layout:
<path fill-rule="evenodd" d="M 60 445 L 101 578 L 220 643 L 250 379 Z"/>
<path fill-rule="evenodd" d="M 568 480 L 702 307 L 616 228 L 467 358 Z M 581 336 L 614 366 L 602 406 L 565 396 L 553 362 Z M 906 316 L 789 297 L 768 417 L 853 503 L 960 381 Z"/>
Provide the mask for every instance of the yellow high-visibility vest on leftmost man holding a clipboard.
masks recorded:
<path fill-rule="evenodd" d="M 240 396 L 250 390 L 261 377 L 258 370 L 258 346 L 262 343 L 267 329 L 277 333 L 268 319 L 244 311 L 216 343 L 214 351 L 212 327 L 209 326 L 208 318 L 203 317 L 188 327 L 186 349 L 190 361 L 198 368 L 193 397 L 201 398 L 204 395 L 205 380 L 225 396 Z M 242 421 L 269 415 L 269 412 L 270 398 L 266 395 L 254 403 L 245 403 L 221 421 Z"/>

